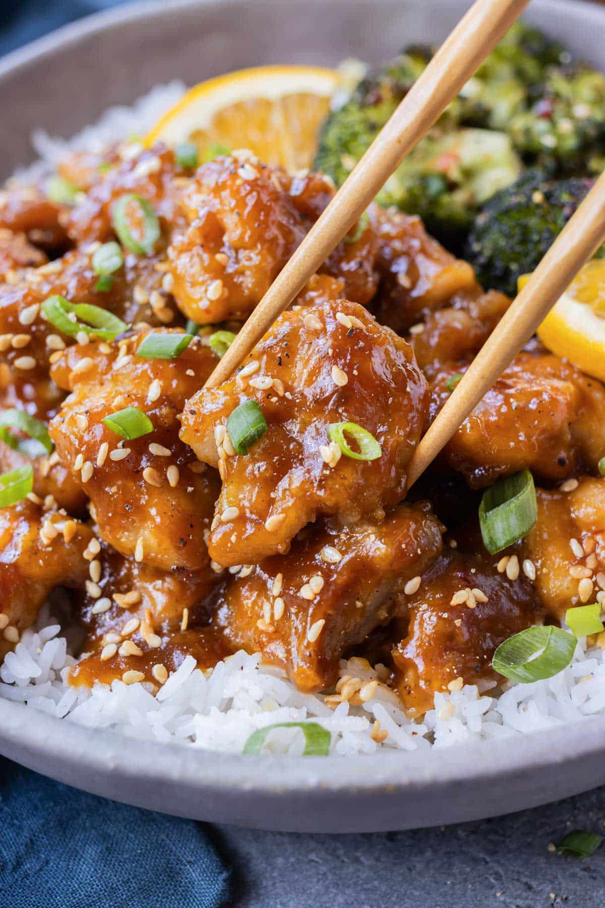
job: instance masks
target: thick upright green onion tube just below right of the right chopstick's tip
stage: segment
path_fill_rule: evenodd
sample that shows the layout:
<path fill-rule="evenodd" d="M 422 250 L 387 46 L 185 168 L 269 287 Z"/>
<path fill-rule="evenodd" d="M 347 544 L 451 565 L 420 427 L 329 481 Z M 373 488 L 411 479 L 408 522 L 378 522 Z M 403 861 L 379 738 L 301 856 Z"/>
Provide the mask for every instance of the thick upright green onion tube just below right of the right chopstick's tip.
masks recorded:
<path fill-rule="evenodd" d="M 499 479 L 483 492 L 479 523 L 490 555 L 526 536 L 538 516 L 536 489 L 529 469 Z"/>

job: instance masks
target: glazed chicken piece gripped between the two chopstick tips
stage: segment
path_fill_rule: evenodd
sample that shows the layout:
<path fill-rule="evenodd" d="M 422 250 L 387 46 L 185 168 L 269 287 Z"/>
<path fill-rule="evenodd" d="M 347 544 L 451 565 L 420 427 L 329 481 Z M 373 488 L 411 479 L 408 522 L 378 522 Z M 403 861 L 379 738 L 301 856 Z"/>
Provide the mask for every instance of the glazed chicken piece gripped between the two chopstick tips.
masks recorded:
<path fill-rule="evenodd" d="M 341 300 L 284 312 L 235 378 L 200 390 L 182 414 L 181 439 L 219 466 L 223 480 L 211 557 L 220 565 L 256 564 L 286 552 L 319 515 L 343 526 L 381 520 L 404 498 L 424 390 L 410 347 L 361 306 Z M 259 404 L 268 429 L 237 455 L 226 423 L 245 400 Z M 371 432 L 381 455 L 339 457 L 327 427 L 342 421 Z"/>

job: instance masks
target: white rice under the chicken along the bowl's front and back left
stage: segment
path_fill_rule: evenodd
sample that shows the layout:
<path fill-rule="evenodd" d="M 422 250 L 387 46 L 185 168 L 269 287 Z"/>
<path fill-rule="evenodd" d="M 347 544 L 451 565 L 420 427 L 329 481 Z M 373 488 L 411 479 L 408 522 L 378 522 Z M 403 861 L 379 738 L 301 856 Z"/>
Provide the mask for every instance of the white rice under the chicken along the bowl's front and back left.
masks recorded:
<path fill-rule="evenodd" d="M 161 114 L 185 91 L 180 82 L 156 86 L 132 107 L 113 107 L 98 123 L 70 140 L 36 130 L 32 137 L 40 160 L 15 174 L 31 181 L 50 173 L 55 164 L 73 151 L 98 151 L 109 142 L 146 133 Z M 447 747 L 468 741 L 528 735 L 557 725 L 605 715 L 605 650 L 586 650 L 578 641 L 575 656 L 559 675 L 530 685 L 480 692 L 466 685 L 453 693 L 437 694 L 434 709 L 424 721 L 405 716 L 392 691 L 384 685 L 363 706 L 341 703 L 331 709 L 321 694 L 301 694 L 277 668 L 260 664 L 260 656 L 240 651 L 211 672 L 196 668 L 187 656 L 171 674 L 157 696 L 147 685 L 65 684 L 70 666 L 67 637 L 44 607 L 37 625 L 24 631 L 14 653 L 0 667 L 0 696 L 25 703 L 52 716 L 89 728 L 107 728 L 143 740 L 174 742 L 230 753 L 241 753 L 252 732 L 282 722 L 312 720 L 331 735 L 330 754 L 373 754 L 378 748 L 418 750 Z M 363 670 L 359 660 L 343 661 L 340 674 L 377 679 L 373 669 Z M 371 737 L 375 722 L 388 735 L 376 744 Z M 304 747 L 297 729 L 278 729 L 268 735 L 272 752 L 299 755 Z"/>

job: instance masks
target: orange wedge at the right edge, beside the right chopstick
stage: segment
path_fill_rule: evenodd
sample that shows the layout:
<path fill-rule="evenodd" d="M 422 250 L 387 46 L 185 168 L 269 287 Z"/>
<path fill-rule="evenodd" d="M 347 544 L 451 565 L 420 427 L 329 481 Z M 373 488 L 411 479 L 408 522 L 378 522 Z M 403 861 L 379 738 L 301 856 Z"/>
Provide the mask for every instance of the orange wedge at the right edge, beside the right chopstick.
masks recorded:
<path fill-rule="evenodd" d="M 528 274 L 519 278 L 519 290 L 528 280 Z M 605 381 L 605 260 L 584 265 L 542 321 L 538 336 L 551 353 Z"/>

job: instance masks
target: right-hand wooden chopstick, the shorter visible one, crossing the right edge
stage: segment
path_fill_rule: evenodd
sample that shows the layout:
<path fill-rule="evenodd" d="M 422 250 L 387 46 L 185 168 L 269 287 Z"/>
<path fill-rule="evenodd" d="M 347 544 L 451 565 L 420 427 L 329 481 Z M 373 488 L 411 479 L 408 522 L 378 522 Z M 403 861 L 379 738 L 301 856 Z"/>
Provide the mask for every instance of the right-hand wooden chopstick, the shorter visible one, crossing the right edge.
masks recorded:
<path fill-rule="evenodd" d="M 408 489 L 529 341 L 544 316 L 602 242 L 605 242 L 605 172 L 552 243 L 424 435 L 410 461 Z"/>

